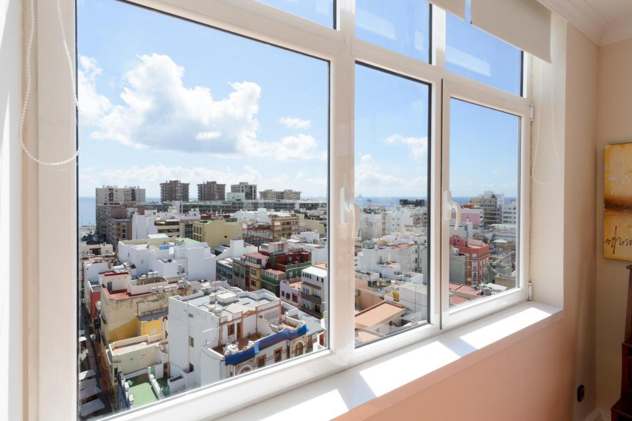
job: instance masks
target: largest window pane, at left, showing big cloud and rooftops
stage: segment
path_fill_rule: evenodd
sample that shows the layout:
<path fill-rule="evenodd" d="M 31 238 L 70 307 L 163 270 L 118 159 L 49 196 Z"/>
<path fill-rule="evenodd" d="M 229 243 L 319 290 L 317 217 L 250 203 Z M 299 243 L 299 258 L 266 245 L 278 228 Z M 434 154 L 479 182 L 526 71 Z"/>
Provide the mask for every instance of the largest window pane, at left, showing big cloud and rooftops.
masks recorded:
<path fill-rule="evenodd" d="M 329 64 L 77 10 L 83 413 L 326 348 Z"/>

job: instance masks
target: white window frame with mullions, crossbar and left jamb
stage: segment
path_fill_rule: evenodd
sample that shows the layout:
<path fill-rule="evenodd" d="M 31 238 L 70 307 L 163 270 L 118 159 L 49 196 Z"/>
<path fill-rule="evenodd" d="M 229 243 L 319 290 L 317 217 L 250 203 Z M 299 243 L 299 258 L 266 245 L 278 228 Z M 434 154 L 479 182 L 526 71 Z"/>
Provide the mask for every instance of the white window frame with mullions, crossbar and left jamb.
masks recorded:
<path fill-rule="evenodd" d="M 524 300 L 525 288 L 516 293 L 498 294 L 477 305 L 464 305 L 456 312 L 441 312 L 440 303 L 447 309 L 447 292 L 441 273 L 442 238 L 447 238 L 447 224 L 442 220 L 441 188 L 446 172 L 442 162 L 441 124 L 442 104 L 446 95 L 464 95 L 476 102 L 509 110 L 520 111 L 524 118 L 529 98 L 516 97 L 482 83 L 468 80 L 445 70 L 446 13 L 432 8 L 432 64 L 417 61 L 384 49 L 364 40 L 355 39 L 355 0 L 336 1 L 336 28 L 317 23 L 271 8 L 255 0 L 128 0 L 181 16 L 191 21 L 228 30 L 270 44 L 303 52 L 330 62 L 330 138 L 329 138 L 329 349 L 274 364 L 228 381 L 179 394 L 138 410 L 112 415 L 117 420 L 179 420 L 219 417 L 262 401 L 284 391 L 308 384 L 353 365 L 375 359 L 411 343 L 441 333 Z M 75 149 L 75 119 L 73 98 L 68 81 L 68 64 L 61 48 L 56 5 L 50 0 L 36 0 L 37 32 L 33 44 L 32 102 L 27 121 L 27 133 L 37 136 L 36 154 L 44 160 L 61 160 Z M 61 0 L 64 25 L 71 56 L 75 56 L 75 0 Z M 430 276 L 432 298 L 428 309 L 428 324 L 402 331 L 384 340 L 358 349 L 354 340 L 354 225 L 355 215 L 348 203 L 354 193 L 354 68 L 356 62 L 401 74 L 430 85 L 430 208 L 428 219 Z M 526 69 L 528 56 L 523 66 Z M 525 76 L 528 72 L 523 71 Z M 68 81 L 68 83 L 64 83 Z M 524 83 L 526 84 L 526 78 Z M 443 86 L 443 88 L 442 88 Z M 446 89 L 447 86 L 447 89 Z M 526 85 L 525 85 L 526 86 Z M 523 89 L 523 92 L 529 92 Z M 443 110 L 443 111 L 442 111 Z M 528 113 L 526 114 L 528 117 Z M 521 142 L 521 282 L 526 282 L 528 265 L 528 120 L 523 119 Z M 86 139 L 85 141 L 90 141 Z M 30 174 L 30 173 L 29 173 Z M 72 164 L 61 167 L 38 167 L 33 170 L 37 182 L 37 208 L 33 226 L 39 232 L 35 247 L 37 263 L 30 279 L 36 280 L 29 288 L 29 302 L 37 308 L 29 309 L 30 349 L 39 350 L 30 364 L 30 405 L 35 417 L 47 419 L 75 419 L 76 417 L 76 283 L 56 282 L 50 287 L 51 274 L 57 280 L 76 278 L 76 172 Z M 30 179 L 30 175 L 26 177 Z M 54 203 L 55 206 L 47 206 Z M 55 221 L 55 223 L 50 223 Z M 449 228 L 448 228 L 449 229 Z M 56 252 L 49 252 L 50 244 Z M 441 270 L 440 270 L 441 269 Z M 523 271 L 525 271 L 523 273 Z M 41 275 L 41 276 L 40 276 Z M 521 285 L 523 287 L 523 285 Z M 442 294 L 443 292 L 443 294 Z M 511 300 L 504 297 L 511 297 Z M 35 299 L 33 301 L 33 299 Z M 483 301 L 483 300 L 482 300 Z M 54 315 L 54 317 L 51 317 Z M 447 323 L 449 321 L 449 323 Z M 32 348 L 31 348 L 32 346 Z M 31 384 L 31 381 L 29 382 Z M 209 403 L 212 403 L 210 405 Z"/>

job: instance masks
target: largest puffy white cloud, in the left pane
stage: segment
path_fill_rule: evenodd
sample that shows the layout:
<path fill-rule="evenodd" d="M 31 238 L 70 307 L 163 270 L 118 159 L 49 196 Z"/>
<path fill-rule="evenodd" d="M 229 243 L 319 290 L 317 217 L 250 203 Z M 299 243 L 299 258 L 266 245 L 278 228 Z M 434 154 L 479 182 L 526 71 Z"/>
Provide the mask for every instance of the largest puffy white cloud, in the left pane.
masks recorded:
<path fill-rule="evenodd" d="M 123 76 L 120 104 L 99 95 L 97 62 L 82 57 L 80 104 L 96 127 L 93 138 L 135 148 L 209 153 L 219 157 L 269 156 L 277 160 L 320 158 L 317 141 L 298 134 L 278 141 L 257 138 L 261 87 L 250 81 L 231 82 L 228 97 L 216 99 L 210 88 L 188 88 L 185 68 L 160 54 L 137 56 Z M 85 101 L 85 105 L 83 102 Z M 291 121 L 295 128 L 305 122 Z"/>

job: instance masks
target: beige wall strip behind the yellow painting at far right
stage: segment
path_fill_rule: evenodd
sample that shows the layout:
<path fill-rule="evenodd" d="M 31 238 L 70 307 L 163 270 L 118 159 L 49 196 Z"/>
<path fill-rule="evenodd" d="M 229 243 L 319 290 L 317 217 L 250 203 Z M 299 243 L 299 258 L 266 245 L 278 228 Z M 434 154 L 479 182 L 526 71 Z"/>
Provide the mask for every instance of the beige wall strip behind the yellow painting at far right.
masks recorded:
<path fill-rule="evenodd" d="M 597 406 L 619 398 L 629 262 L 604 259 L 604 145 L 632 141 L 632 39 L 599 48 L 597 131 Z"/>

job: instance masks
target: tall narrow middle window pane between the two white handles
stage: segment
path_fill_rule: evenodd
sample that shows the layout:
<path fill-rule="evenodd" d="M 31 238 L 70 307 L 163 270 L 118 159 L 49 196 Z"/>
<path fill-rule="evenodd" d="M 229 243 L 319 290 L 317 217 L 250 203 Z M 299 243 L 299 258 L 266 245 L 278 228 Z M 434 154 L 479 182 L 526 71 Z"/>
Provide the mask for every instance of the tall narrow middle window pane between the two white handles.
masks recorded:
<path fill-rule="evenodd" d="M 356 345 L 428 318 L 428 85 L 356 65 Z"/>

